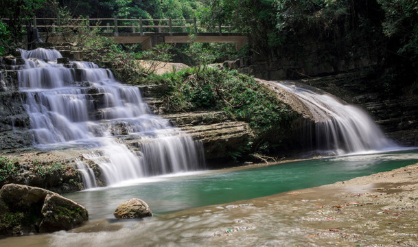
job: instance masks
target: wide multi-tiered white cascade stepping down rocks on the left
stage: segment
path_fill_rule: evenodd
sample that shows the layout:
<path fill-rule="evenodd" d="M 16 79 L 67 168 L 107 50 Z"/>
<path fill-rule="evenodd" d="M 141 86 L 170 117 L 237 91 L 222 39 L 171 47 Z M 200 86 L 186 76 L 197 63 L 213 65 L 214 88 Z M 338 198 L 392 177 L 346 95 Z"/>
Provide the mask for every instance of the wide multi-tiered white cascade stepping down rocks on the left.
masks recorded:
<path fill-rule="evenodd" d="M 205 165 L 198 141 L 150 114 L 139 89 L 119 84 L 108 69 L 92 62 L 58 64 L 54 60 L 62 56 L 51 49 L 21 54 L 19 87 L 27 94 L 36 145 L 90 148 L 83 156 L 100 166 L 107 185 Z M 95 187 L 89 166 L 77 163 L 85 187 Z"/>

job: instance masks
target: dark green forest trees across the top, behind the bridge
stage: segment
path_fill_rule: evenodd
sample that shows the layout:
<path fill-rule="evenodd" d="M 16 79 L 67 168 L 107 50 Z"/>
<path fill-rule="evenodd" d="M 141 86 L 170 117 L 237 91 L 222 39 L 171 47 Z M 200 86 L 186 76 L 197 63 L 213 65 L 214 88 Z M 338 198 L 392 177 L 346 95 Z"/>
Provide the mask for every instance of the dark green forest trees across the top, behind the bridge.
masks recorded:
<path fill-rule="evenodd" d="M 313 39 L 329 49 L 369 44 L 418 65 L 418 0 L 2 0 L 0 52 L 25 32 L 32 16 L 62 10 L 91 18 L 197 17 L 206 25 L 231 25 L 266 57 Z"/>

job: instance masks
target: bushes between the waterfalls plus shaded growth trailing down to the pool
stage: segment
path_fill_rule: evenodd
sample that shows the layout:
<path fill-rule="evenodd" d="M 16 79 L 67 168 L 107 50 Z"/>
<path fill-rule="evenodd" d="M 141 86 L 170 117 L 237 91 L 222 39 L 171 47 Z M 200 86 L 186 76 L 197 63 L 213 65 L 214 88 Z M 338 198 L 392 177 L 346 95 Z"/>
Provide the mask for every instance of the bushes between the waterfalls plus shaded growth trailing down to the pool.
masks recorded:
<path fill-rule="evenodd" d="M 169 113 L 221 110 L 231 120 L 248 123 L 253 130 L 253 139 L 229 152 L 229 158 L 248 159 L 248 152 L 257 158 L 267 158 L 265 155 L 290 148 L 290 143 L 285 147 L 281 141 L 286 138 L 286 132 L 290 131 L 297 114 L 279 101 L 275 93 L 248 75 L 211 67 L 194 67 L 177 73 L 152 75 L 146 80 L 167 85 L 160 96 L 165 111 Z"/>

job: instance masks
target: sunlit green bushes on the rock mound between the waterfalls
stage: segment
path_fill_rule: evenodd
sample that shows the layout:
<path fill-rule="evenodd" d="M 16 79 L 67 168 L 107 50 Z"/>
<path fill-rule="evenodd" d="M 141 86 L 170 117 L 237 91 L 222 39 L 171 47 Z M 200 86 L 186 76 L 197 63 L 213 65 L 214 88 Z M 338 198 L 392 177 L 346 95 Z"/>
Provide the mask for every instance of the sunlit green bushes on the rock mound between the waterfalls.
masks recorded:
<path fill-rule="evenodd" d="M 233 119 L 246 121 L 256 131 L 279 130 L 290 123 L 292 110 L 253 78 L 237 71 L 208 68 L 196 75 L 194 69 L 161 76 L 170 90 L 163 99 L 172 112 L 224 110 Z"/>

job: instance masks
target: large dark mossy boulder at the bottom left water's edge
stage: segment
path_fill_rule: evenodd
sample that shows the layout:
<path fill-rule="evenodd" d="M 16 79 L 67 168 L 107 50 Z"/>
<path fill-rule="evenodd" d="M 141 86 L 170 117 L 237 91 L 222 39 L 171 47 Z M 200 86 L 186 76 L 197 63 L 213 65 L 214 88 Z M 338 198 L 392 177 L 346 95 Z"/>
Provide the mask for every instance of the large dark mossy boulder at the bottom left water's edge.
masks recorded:
<path fill-rule="evenodd" d="M 69 230 L 89 220 L 84 207 L 57 193 L 9 184 L 0 190 L 0 234 Z"/>

